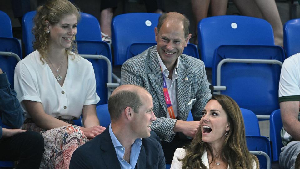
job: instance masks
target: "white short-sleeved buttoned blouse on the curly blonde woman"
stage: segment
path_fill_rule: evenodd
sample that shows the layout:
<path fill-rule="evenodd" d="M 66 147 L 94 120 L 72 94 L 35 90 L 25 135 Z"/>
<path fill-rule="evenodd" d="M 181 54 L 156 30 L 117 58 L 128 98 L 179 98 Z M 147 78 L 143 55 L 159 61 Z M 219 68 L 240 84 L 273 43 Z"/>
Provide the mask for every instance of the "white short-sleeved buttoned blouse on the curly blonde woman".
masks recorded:
<path fill-rule="evenodd" d="M 74 53 L 73 53 L 74 54 Z M 41 102 L 46 114 L 65 119 L 79 118 L 84 105 L 97 104 L 96 80 L 92 64 L 79 56 L 68 57 L 68 70 L 61 87 L 49 65 L 40 60 L 36 50 L 15 68 L 14 89 L 19 102 Z M 73 60 L 72 60 L 73 59 Z M 25 118 L 31 118 L 24 105 Z"/>

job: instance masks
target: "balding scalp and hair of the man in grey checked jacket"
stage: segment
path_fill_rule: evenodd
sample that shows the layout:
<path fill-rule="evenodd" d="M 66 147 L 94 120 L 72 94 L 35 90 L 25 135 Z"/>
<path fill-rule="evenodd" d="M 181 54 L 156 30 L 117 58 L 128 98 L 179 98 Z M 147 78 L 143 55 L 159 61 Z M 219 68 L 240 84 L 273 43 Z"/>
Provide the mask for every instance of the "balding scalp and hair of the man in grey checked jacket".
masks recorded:
<path fill-rule="evenodd" d="M 158 18 L 158 25 L 157 25 L 157 31 L 159 32 L 159 29 L 162 27 L 163 23 L 167 21 L 173 21 L 176 23 L 183 24 L 183 31 L 184 31 L 184 38 L 187 38 L 189 35 L 189 30 L 190 30 L 190 21 L 188 18 L 178 12 L 169 12 L 169 13 L 163 13 L 159 18 Z"/>

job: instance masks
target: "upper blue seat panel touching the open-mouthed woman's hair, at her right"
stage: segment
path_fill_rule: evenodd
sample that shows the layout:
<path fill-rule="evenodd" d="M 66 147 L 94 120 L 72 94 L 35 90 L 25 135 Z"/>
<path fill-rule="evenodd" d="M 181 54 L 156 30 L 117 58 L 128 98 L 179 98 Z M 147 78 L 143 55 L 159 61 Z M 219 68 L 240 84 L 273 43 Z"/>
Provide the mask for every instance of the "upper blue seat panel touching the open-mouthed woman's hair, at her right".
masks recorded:
<path fill-rule="evenodd" d="M 246 135 L 260 136 L 259 124 L 256 115 L 251 110 L 243 108 L 240 109 L 244 119 Z"/>

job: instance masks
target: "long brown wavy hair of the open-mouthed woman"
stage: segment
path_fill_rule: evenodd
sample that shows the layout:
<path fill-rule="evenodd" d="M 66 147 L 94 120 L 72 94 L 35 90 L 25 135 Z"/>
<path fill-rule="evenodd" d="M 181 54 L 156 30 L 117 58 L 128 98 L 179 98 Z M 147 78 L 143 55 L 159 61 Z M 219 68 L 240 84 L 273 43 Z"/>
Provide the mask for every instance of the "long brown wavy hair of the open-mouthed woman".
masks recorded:
<path fill-rule="evenodd" d="M 252 169 L 253 161 L 256 168 L 259 168 L 259 162 L 256 156 L 252 155 L 246 145 L 245 126 L 243 116 L 237 103 L 226 95 L 215 95 L 210 100 L 216 100 L 227 114 L 227 120 L 230 124 L 230 131 L 225 137 L 220 157 L 223 161 L 227 161 L 229 168 L 236 169 Z M 210 101 L 208 100 L 208 101 Z M 225 133 L 224 133 L 225 134 Z M 202 141 L 202 131 L 199 128 L 198 133 L 193 139 L 191 145 L 184 147 L 186 156 L 182 161 L 182 168 L 202 168 L 207 169 L 203 164 L 201 157 L 205 150 L 213 154 L 212 148 Z M 213 160 L 212 156 L 212 160 Z"/>

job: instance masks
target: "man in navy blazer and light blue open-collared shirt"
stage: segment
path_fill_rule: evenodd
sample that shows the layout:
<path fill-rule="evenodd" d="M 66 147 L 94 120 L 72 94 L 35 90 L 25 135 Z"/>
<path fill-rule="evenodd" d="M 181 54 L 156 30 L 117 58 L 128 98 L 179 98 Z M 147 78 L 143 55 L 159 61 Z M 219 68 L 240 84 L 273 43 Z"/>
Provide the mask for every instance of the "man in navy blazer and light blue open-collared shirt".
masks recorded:
<path fill-rule="evenodd" d="M 70 169 L 166 168 L 160 142 L 155 136 L 149 137 L 156 118 L 147 90 L 136 85 L 119 86 L 109 97 L 108 111 L 110 126 L 74 151 Z"/>

